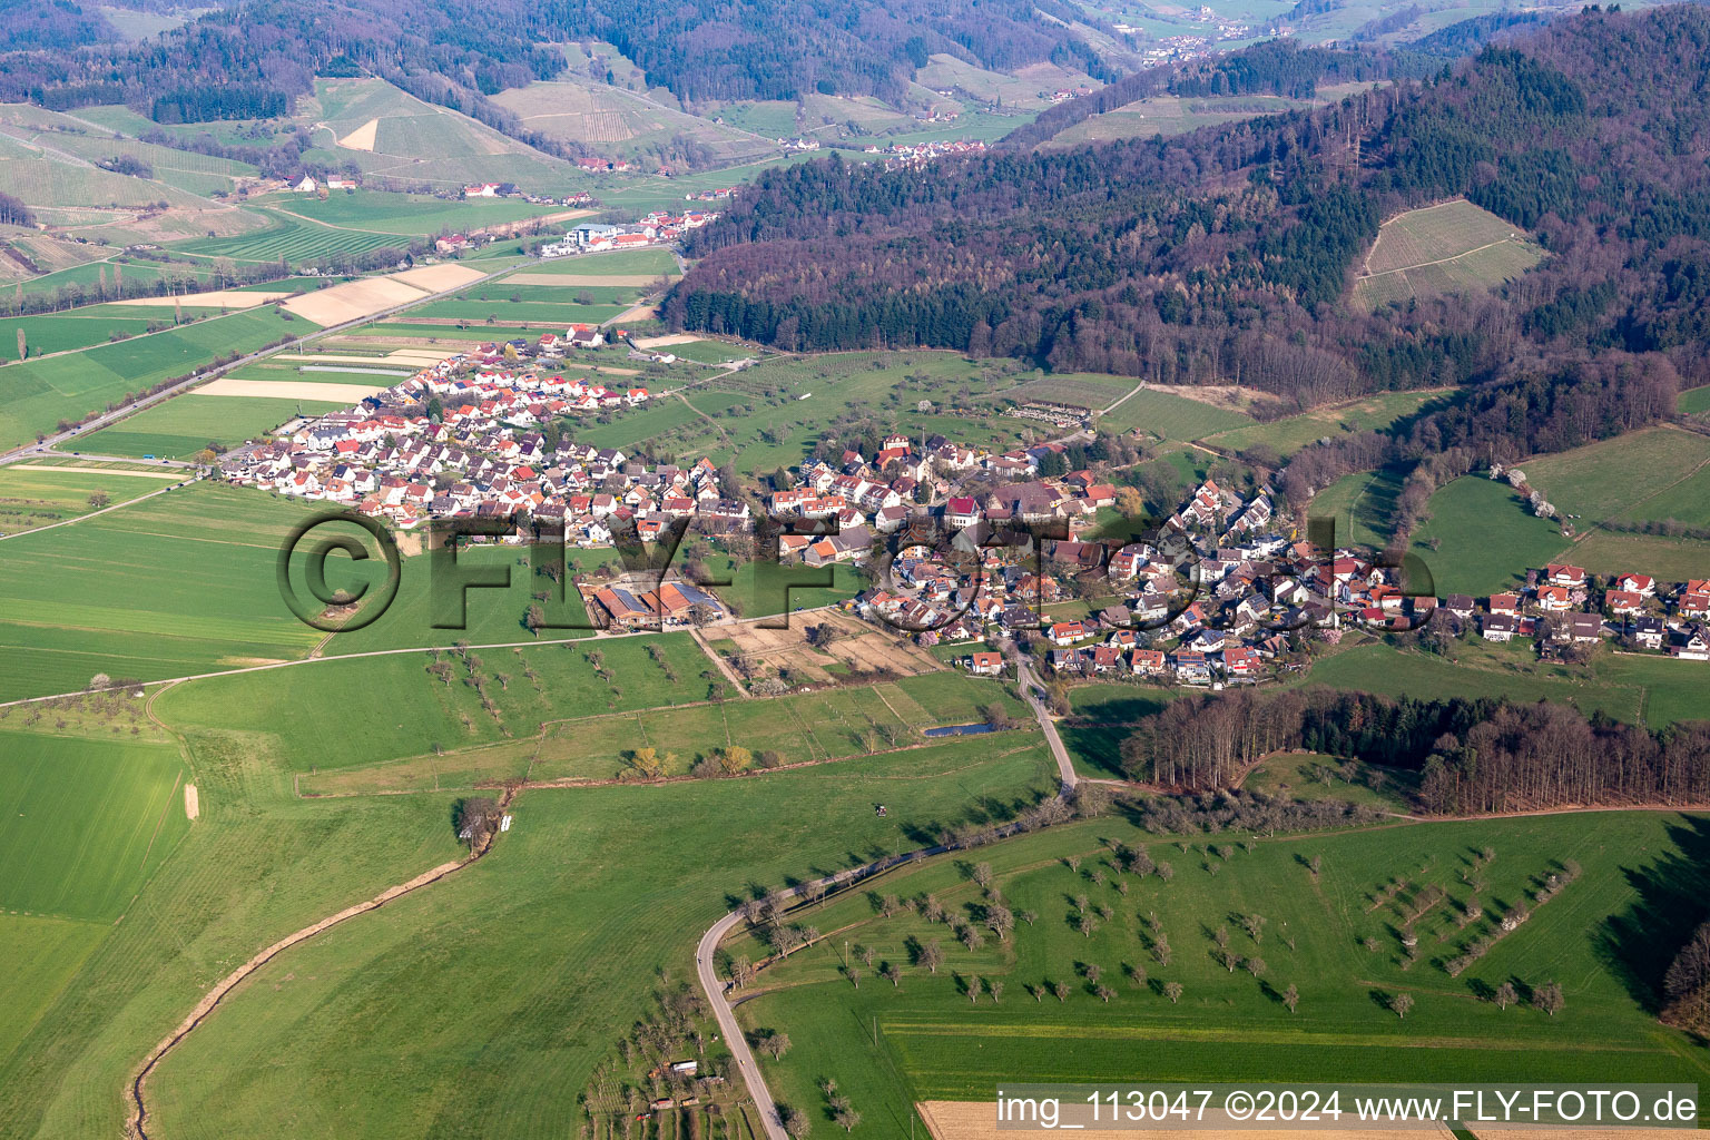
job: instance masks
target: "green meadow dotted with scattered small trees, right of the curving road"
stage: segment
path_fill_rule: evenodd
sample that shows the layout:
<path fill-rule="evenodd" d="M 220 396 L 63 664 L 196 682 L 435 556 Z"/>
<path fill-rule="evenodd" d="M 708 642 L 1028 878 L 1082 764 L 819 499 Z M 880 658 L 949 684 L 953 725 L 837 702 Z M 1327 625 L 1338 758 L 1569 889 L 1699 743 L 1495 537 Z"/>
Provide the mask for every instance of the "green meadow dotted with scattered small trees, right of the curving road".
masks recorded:
<path fill-rule="evenodd" d="M 1672 814 L 1433 822 L 1344 832 L 1228 836 L 1228 856 L 1197 841 L 1165 843 L 1122 819 L 1100 819 L 954 855 L 894 873 L 793 920 L 834 938 L 764 969 L 739 1005 L 751 1031 L 781 1031 L 792 1048 L 764 1061 L 780 1101 L 831 1126 L 817 1082 L 834 1077 L 862 1116 L 855 1131 L 903 1135 L 922 1099 L 990 1101 L 1028 1080 L 1684 1080 L 1710 1072 L 1686 1037 L 1657 1025 L 1657 984 L 1672 947 L 1701 914 L 1710 826 Z M 1223 839 L 1216 839 L 1221 843 Z M 1151 844 L 1175 865 L 1161 882 L 1120 873 L 1110 846 Z M 1495 853 L 1484 861 L 1481 849 Z M 1320 860 L 1320 872 L 1308 861 Z M 882 918 L 877 896 L 934 894 L 980 923 L 970 880 L 987 861 L 1017 921 L 1007 938 L 966 950 L 917 913 Z M 1495 926 L 1551 873 L 1578 877 L 1537 906 L 1459 978 L 1442 962 Z M 1462 921 L 1484 885 L 1481 921 Z M 1395 892 L 1390 892 L 1390 887 Z M 1077 930 L 1081 904 L 1094 914 Z M 1103 914 L 1103 918 L 1098 918 Z M 1241 918 L 1259 914 L 1259 935 Z M 1412 918 L 1416 916 L 1418 918 Z M 1153 925 L 1156 920 L 1156 925 Z M 1409 921 L 1411 920 L 1411 921 Z M 1221 961 L 1228 937 L 1233 967 Z M 1418 935 L 1418 961 L 1400 943 Z M 1366 949 L 1366 938 L 1373 949 Z M 920 964 L 939 942 L 946 966 Z M 1161 942 L 1173 942 L 1161 952 Z M 893 986 L 864 966 L 901 969 Z M 764 957 L 747 935 L 730 957 Z M 1262 967 L 1248 966 L 1262 959 Z M 865 978 L 852 984 L 846 967 Z M 1093 967 L 1098 973 L 1093 973 Z M 1135 973 L 1139 971 L 1139 973 Z M 978 1000 L 970 1000 L 973 979 Z M 988 983 L 1004 983 L 994 1000 Z M 1561 1014 L 1491 993 L 1560 983 Z M 1062 998 L 1029 986 L 1062 984 Z M 1166 984 L 1180 984 L 1170 1000 Z M 1105 986 L 1108 1000 L 1096 993 Z M 1282 1002 L 1298 993 L 1298 1010 Z M 1406 1019 L 1390 1005 L 1412 1000 Z"/>

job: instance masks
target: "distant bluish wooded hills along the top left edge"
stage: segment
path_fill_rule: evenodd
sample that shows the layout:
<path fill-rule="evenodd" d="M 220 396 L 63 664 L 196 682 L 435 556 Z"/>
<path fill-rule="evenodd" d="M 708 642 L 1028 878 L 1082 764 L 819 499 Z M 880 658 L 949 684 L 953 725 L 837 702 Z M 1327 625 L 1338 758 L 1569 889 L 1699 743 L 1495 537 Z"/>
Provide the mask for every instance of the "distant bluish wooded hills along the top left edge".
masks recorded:
<path fill-rule="evenodd" d="M 356 68 L 410 91 L 494 94 L 556 75 L 566 63 L 552 44 L 590 39 L 691 104 L 816 91 L 898 99 L 940 51 L 992 70 L 1057 60 L 1113 75 L 1076 21 L 1086 15 L 1065 0 L 241 0 L 115 44 L 94 43 L 106 38 L 94 3 L 58 0 L 0 31 L 0 101 L 243 118 L 277 113 L 316 73 Z"/>

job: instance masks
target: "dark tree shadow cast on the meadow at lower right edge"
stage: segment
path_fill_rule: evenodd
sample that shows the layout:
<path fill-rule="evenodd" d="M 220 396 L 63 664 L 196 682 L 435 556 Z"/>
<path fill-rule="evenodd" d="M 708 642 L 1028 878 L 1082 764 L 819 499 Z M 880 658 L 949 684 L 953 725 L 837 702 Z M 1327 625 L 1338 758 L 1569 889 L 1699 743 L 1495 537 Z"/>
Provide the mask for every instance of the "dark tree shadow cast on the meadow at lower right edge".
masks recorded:
<path fill-rule="evenodd" d="M 1669 827 L 1678 851 L 1624 868 L 1638 901 L 1592 933 L 1595 950 L 1642 1008 L 1662 1008 L 1662 976 L 1698 923 L 1710 916 L 1710 820 Z"/>

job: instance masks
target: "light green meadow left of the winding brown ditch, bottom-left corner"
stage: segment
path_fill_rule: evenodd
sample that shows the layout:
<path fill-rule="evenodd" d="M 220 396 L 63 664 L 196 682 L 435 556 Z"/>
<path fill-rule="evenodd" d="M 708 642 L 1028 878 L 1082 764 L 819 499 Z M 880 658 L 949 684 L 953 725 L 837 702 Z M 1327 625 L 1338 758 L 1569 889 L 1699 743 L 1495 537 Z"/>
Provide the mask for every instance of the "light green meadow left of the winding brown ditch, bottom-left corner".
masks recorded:
<path fill-rule="evenodd" d="M 121 921 L 0 918 L 0 959 L 22 964 L 21 983 L 10 969 L 0 979 L 19 998 L 0 1031 L 3 1137 L 121 1131 L 135 1067 L 221 976 L 458 856 L 450 796 L 304 803 L 263 738 L 193 732 L 188 747 L 200 819 L 186 826 L 181 800 L 173 807 L 183 836 L 127 897 Z"/>

